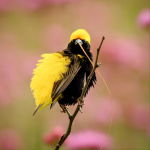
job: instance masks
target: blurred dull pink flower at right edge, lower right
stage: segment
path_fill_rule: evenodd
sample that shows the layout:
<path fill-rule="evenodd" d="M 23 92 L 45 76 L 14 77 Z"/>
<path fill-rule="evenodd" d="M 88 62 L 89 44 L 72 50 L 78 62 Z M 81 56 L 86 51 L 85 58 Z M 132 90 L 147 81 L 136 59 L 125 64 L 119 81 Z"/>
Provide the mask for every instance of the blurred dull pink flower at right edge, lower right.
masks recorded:
<path fill-rule="evenodd" d="M 148 105 L 130 105 L 127 111 L 129 123 L 141 130 L 149 128 L 149 106 Z"/>

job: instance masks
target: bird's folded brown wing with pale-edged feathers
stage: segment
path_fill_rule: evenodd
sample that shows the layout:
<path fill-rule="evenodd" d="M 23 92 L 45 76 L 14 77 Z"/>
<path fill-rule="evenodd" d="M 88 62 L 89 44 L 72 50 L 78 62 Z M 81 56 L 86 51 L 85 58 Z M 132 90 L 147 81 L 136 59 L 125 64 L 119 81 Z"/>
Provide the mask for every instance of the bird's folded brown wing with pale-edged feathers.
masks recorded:
<path fill-rule="evenodd" d="M 78 56 L 74 56 L 74 63 L 70 65 L 68 71 L 63 75 L 63 78 L 54 83 L 52 90 L 52 102 L 55 102 L 56 98 L 68 87 L 71 81 L 81 68 Z M 53 106 L 53 104 L 51 105 Z"/>

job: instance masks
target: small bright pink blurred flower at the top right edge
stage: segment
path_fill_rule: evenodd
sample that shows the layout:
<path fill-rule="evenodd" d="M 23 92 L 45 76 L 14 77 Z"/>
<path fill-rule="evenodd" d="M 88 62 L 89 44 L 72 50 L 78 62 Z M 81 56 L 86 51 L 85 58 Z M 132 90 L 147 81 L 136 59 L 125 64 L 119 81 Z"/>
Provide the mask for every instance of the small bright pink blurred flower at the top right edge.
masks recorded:
<path fill-rule="evenodd" d="M 150 10 L 149 9 L 144 9 L 139 13 L 137 17 L 137 23 L 139 26 L 143 28 L 148 28 L 150 26 Z"/>

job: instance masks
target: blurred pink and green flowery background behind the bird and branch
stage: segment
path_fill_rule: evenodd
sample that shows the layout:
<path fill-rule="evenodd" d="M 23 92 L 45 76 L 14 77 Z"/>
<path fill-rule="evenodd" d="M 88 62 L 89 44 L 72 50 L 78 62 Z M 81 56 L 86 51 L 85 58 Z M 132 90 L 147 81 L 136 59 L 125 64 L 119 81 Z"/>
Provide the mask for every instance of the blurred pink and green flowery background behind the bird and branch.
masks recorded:
<path fill-rule="evenodd" d="M 69 120 L 58 104 L 32 116 L 30 81 L 41 54 L 65 49 L 79 28 L 89 32 L 94 56 L 106 38 L 98 70 L 114 117 L 104 144 L 111 101 L 97 75 L 62 150 L 149 149 L 149 27 L 148 0 L 0 0 L 0 149 L 52 150 L 65 133 Z"/>

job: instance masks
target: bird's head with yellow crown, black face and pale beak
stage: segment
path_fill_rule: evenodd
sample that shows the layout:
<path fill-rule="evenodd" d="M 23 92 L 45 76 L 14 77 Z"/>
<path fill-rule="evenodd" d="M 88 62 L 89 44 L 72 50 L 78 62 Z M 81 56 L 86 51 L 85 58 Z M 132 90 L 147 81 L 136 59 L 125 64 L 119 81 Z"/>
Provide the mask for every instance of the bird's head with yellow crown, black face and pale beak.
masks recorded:
<path fill-rule="evenodd" d="M 68 49 L 70 49 L 73 53 L 82 54 L 79 43 L 82 45 L 85 51 L 90 51 L 90 35 L 84 29 L 78 29 L 74 31 L 70 36 L 70 42 L 68 44 Z"/>

